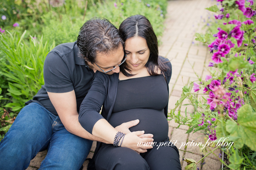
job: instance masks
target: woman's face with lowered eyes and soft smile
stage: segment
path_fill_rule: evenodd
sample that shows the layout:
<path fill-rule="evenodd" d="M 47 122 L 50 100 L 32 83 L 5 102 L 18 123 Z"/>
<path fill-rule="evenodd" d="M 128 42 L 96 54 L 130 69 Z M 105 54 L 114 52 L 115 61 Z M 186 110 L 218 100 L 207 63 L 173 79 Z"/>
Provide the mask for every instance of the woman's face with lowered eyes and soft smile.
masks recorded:
<path fill-rule="evenodd" d="M 150 56 L 145 38 L 132 37 L 125 41 L 126 64 L 131 71 L 139 71 L 145 67 Z"/>

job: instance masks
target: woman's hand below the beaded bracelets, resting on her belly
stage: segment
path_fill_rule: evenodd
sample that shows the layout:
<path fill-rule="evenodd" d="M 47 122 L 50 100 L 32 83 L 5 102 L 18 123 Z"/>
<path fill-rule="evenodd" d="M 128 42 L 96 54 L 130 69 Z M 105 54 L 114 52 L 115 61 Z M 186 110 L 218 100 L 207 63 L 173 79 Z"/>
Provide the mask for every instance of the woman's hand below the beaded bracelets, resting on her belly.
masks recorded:
<path fill-rule="evenodd" d="M 147 152 L 147 149 L 153 148 L 152 144 L 154 139 L 140 138 L 139 136 L 143 134 L 144 134 L 144 131 L 136 131 L 136 132 L 130 132 L 126 134 L 122 143 L 122 147 L 130 148 L 139 153 Z"/>

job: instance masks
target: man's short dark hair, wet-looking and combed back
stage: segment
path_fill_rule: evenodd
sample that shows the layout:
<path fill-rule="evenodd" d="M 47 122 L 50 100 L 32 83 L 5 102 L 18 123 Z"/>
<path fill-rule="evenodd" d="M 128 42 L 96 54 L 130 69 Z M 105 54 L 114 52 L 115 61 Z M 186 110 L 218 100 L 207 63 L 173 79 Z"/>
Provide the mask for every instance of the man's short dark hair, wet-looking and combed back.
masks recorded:
<path fill-rule="evenodd" d="M 77 37 L 79 56 L 93 63 L 96 54 L 108 53 L 121 45 L 125 47 L 124 38 L 119 30 L 106 18 L 91 18 L 81 27 Z"/>

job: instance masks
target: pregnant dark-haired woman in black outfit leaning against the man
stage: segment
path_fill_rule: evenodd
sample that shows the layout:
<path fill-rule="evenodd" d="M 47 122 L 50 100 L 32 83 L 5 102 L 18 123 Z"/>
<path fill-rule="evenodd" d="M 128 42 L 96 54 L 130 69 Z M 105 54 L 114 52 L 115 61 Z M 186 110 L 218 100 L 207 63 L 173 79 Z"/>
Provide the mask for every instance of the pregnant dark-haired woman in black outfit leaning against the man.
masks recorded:
<path fill-rule="evenodd" d="M 169 143 L 167 107 L 171 63 L 158 56 L 157 37 L 146 17 L 127 18 L 119 31 L 124 36 L 126 55 L 118 66 L 109 70 L 120 68 L 120 72 L 108 75 L 108 70 L 100 68 L 102 72 L 96 72 L 80 107 L 79 122 L 83 128 L 114 144 L 98 142 L 90 168 L 181 170 L 177 148 L 158 146 L 159 142 Z M 126 132 L 114 129 L 131 120 L 139 123 Z M 143 133 L 153 134 L 155 146 L 147 150 L 137 146 L 141 139 L 138 136 Z"/>

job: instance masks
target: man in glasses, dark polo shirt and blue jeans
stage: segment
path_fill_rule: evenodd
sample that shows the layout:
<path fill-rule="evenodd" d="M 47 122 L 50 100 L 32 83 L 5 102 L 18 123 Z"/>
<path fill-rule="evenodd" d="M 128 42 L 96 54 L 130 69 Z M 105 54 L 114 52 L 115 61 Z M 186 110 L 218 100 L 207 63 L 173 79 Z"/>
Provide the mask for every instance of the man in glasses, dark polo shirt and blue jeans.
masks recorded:
<path fill-rule="evenodd" d="M 78 121 L 80 105 L 96 70 L 119 72 L 123 48 L 119 31 L 108 20 L 93 18 L 81 28 L 77 42 L 58 45 L 49 52 L 44 63 L 45 84 L 0 142 L 0 169 L 26 169 L 45 149 L 48 152 L 40 169 L 80 169 L 91 140 L 105 142 L 82 128 Z M 123 127 L 136 124 L 128 122 Z"/>

